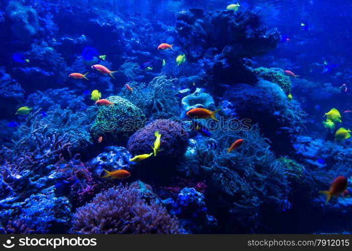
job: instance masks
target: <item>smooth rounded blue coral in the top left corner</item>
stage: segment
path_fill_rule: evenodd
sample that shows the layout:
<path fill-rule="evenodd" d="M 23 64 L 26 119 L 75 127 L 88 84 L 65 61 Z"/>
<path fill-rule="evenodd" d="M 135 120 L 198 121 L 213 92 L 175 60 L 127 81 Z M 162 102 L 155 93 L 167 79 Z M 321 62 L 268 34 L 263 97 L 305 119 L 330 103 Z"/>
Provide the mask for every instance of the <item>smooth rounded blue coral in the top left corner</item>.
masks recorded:
<path fill-rule="evenodd" d="M 39 29 L 37 12 L 18 1 L 11 1 L 6 13 L 12 20 L 11 26 L 14 35 L 18 39 L 27 39 L 35 35 Z"/>

